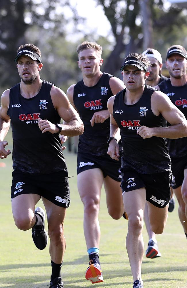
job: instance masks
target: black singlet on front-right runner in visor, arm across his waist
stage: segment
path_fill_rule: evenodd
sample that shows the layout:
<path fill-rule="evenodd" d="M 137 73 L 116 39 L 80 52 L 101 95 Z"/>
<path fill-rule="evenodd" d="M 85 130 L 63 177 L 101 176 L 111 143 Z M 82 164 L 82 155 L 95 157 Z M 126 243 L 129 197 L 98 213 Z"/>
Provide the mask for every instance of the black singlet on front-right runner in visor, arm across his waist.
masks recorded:
<path fill-rule="evenodd" d="M 142 97 L 133 105 L 124 103 L 126 89 L 117 93 L 113 117 L 117 122 L 123 144 L 122 167 L 128 167 L 141 174 L 159 173 L 169 170 L 170 157 L 165 138 L 143 139 L 137 135 L 140 126 L 164 127 L 165 119 L 151 110 L 151 95 L 156 89 L 145 85 Z"/>

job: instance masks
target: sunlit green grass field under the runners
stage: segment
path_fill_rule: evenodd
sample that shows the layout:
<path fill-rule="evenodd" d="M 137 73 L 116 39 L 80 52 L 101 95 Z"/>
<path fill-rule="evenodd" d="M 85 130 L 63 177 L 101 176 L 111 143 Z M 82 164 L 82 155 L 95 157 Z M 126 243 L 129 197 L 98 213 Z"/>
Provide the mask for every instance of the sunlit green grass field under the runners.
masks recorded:
<path fill-rule="evenodd" d="M 6 140 L 9 141 L 8 146 L 12 150 L 11 133 L 7 135 Z M 99 215 L 100 261 L 104 282 L 91 284 L 85 280 L 88 256 L 83 236 L 83 205 L 76 184 L 76 155 L 64 151 L 64 156 L 69 176 L 74 176 L 69 179 L 71 206 L 68 208 L 65 221 L 67 246 L 62 267 L 64 288 L 132 288 L 133 280 L 125 248 L 128 221 L 123 217 L 119 220 L 111 219 L 106 209 L 104 190 Z M 40 251 L 33 243 L 31 230 L 23 232 L 16 228 L 10 200 L 12 159 L 9 157 L 1 162 L 4 162 L 6 167 L 0 167 L 0 287 L 46 287 L 51 275 L 49 243 L 45 250 Z M 39 205 L 44 208 L 41 200 Z M 187 241 L 178 219 L 177 206 L 169 213 L 164 233 L 157 236 L 162 257 L 147 259 L 144 256 L 144 288 L 187 288 Z M 143 236 L 146 249 L 148 235 L 145 227 Z"/>

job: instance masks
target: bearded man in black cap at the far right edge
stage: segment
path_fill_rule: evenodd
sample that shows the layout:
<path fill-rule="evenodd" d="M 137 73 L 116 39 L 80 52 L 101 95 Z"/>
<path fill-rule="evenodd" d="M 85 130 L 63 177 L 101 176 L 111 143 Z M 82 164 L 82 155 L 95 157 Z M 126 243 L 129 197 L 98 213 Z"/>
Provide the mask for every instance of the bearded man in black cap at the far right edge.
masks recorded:
<path fill-rule="evenodd" d="M 183 46 L 168 48 L 166 67 L 170 79 L 164 80 L 156 88 L 164 92 L 187 118 L 187 52 Z M 171 187 L 179 202 L 179 219 L 187 238 L 187 138 L 168 139 L 167 145 L 173 173 Z"/>

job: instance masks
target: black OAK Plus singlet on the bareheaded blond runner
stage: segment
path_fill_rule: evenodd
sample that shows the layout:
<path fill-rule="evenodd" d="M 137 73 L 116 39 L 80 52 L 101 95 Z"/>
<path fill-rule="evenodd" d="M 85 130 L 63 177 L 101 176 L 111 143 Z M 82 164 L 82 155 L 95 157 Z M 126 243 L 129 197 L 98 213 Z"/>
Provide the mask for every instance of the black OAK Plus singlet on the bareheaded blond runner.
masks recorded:
<path fill-rule="evenodd" d="M 84 133 L 79 136 L 78 151 L 100 156 L 106 154 L 107 140 L 110 134 L 110 118 L 104 123 L 94 123 L 90 120 L 95 112 L 106 110 L 108 98 L 113 96 L 109 80 L 113 75 L 103 73 L 95 86 L 84 85 L 83 80 L 74 86 L 73 103 L 84 124 Z"/>

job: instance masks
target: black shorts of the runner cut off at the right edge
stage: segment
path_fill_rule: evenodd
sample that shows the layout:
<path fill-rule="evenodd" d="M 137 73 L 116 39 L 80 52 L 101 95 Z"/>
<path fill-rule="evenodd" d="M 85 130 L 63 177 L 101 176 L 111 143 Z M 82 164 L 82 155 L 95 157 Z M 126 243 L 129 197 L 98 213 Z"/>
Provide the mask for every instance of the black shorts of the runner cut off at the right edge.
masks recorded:
<path fill-rule="evenodd" d="M 187 158 L 171 158 L 171 170 L 173 173 L 173 180 L 171 187 L 176 189 L 182 185 L 184 180 L 184 169 L 187 168 Z"/>

